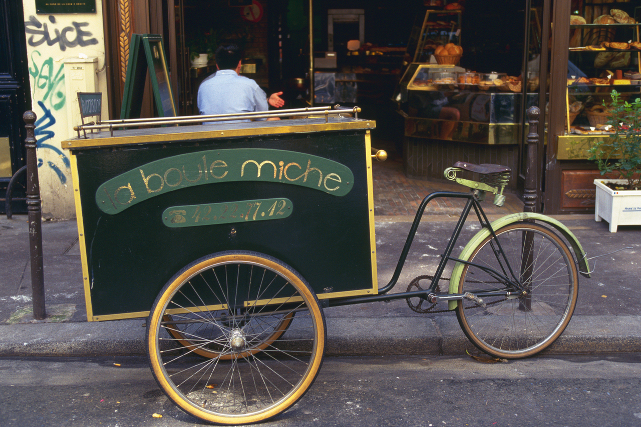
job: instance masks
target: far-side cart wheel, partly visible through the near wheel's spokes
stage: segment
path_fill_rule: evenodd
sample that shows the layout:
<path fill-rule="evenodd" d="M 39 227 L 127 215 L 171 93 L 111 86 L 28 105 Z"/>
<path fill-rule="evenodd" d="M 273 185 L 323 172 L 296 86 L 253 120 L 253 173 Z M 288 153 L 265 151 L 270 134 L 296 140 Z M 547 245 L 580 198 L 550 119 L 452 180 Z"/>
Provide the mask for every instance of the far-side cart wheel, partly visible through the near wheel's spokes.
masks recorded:
<path fill-rule="evenodd" d="M 219 310 L 219 313 L 214 314 L 215 318 L 223 317 L 228 314 L 227 310 Z M 185 323 L 186 317 L 192 317 L 197 320 L 195 314 L 183 314 L 183 318 L 165 314 L 163 316 L 163 328 L 190 351 L 194 351 L 202 357 L 219 357 L 222 360 L 232 359 L 233 357 L 246 357 L 247 355 L 254 354 L 258 351 L 265 350 L 271 346 L 289 327 L 292 323 L 295 313 L 287 314 L 269 314 L 265 316 L 255 317 L 251 319 L 253 325 L 246 325 L 246 330 L 251 330 L 251 335 L 254 339 L 248 342 L 240 355 L 231 353 L 227 350 L 227 341 L 224 337 L 222 330 L 212 330 L 206 323 L 199 321 L 192 321 Z M 174 321 L 175 319 L 175 321 Z M 204 343 L 199 341 L 203 334 L 212 334 L 209 342 Z"/>

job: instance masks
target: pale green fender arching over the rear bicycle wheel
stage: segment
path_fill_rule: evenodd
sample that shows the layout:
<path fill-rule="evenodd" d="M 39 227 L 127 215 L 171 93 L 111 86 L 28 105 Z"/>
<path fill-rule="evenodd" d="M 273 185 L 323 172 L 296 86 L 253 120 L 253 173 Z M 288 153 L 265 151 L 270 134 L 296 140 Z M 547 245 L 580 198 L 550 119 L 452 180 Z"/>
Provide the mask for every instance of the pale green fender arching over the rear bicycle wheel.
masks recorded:
<path fill-rule="evenodd" d="M 492 222 L 491 225 L 493 230 L 498 230 L 501 227 L 504 227 L 511 223 L 524 220 L 537 220 L 540 222 L 544 222 L 560 232 L 563 237 L 570 243 L 570 246 L 572 246 L 572 249 L 574 250 L 574 254 L 576 254 L 576 259 L 578 260 L 579 264 L 579 273 L 581 273 L 581 275 L 585 277 L 590 277 L 590 268 L 588 266 L 588 261 L 585 258 L 585 251 L 583 250 L 581 243 L 579 243 L 576 236 L 574 236 L 574 234 L 572 234 L 572 232 L 567 227 L 565 227 L 565 225 L 558 222 L 554 218 L 550 218 L 549 216 L 545 216 L 544 214 L 539 213 L 521 212 L 503 216 L 502 218 L 499 218 L 498 220 Z M 481 241 L 483 241 L 483 239 L 487 238 L 487 236 L 489 235 L 490 230 L 487 229 L 487 227 L 481 229 L 472 239 L 470 239 L 467 245 L 465 245 L 465 248 L 463 248 L 461 254 L 458 255 L 458 258 L 467 261 L 472 255 L 472 252 L 474 252 L 474 249 L 476 249 L 476 246 L 478 246 Z M 463 268 L 465 268 L 465 264 L 463 264 L 463 262 L 457 262 L 454 265 L 452 276 L 449 279 L 449 293 L 458 293 L 458 284 L 460 282 L 461 274 L 463 273 Z M 450 301 L 449 309 L 456 309 L 456 305 L 458 305 L 458 301 Z"/>

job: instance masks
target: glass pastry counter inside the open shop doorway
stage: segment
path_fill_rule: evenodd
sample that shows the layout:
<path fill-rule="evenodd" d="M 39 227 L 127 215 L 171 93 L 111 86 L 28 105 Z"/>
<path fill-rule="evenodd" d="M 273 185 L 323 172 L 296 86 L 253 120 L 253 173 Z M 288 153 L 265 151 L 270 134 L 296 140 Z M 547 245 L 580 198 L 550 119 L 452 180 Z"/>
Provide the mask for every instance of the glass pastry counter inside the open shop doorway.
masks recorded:
<path fill-rule="evenodd" d="M 394 100 L 404 118 L 405 136 L 514 144 L 522 132 L 523 96 L 520 80 L 504 73 L 412 63 Z M 538 93 L 525 96 L 526 109 L 538 104 Z"/>

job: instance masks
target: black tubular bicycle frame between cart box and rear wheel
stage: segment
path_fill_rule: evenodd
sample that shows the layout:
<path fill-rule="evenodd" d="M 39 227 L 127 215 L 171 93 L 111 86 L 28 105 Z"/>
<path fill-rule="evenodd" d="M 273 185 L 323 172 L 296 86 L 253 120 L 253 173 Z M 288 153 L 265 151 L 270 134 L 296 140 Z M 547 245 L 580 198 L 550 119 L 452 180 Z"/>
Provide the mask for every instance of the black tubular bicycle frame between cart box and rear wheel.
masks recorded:
<path fill-rule="evenodd" d="M 403 271 L 403 266 L 407 259 L 407 255 L 410 252 L 410 246 L 412 246 L 412 241 L 414 240 L 414 236 L 417 232 L 417 229 L 419 228 L 420 220 L 423 216 L 423 213 L 427 205 L 429 204 L 429 202 L 431 202 L 435 198 L 446 198 L 446 197 L 465 198 L 467 199 L 467 202 L 465 203 L 465 207 L 463 207 L 463 211 L 461 212 L 458 218 L 458 222 L 456 223 L 456 227 L 454 227 L 452 236 L 449 239 L 447 246 L 445 247 L 445 251 L 441 255 L 441 260 L 440 262 L 438 262 L 437 270 L 435 271 L 434 277 L 432 278 L 432 282 L 429 285 L 429 288 L 419 289 L 418 291 L 408 291 L 403 293 L 387 294 L 397 284 L 398 279 L 401 275 L 401 271 Z M 492 234 L 492 236 L 494 237 L 494 241 L 495 243 L 497 243 L 497 246 L 498 246 L 497 248 L 498 253 L 496 254 L 497 259 L 499 259 L 499 256 L 502 257 L 503 260 L 505 261 L 505 264 L 508 266 L 509 271 L 503 271 L 503 273 L 500 273 L 499 271 L 496 271 L 492 268 L 479 266 L 478 264 L 474 264 L 473 262 L 463 261 L 462 259 L 458 259 L 451 256 L 452 251 L 454 250 L 454 246 L 456 245 L 456 241 L 458 240 L 458 237 L 460 236 L 461 231 L 463 230 L 463 225 L 465 225 L 465 221 L 467 220 L 467 217 L 469 216 L 472 208 L 474 208 L 474 212 L 476 213 L 476 217 L 478 218 L 479 223 L 481 223 L 481 227 L 487 227 L 487 229 L 490 231 L 490 234 Z M 410 232 L 408 233 L 407 239 L 405 240 L 405 245 L 403 246 L 401 255 L 399 255 L 399 261 L 396 264 L 394 274 L 392 275 L 392 278 L 390 279 L 390 282 L 387 285 L 378 289 L 378 294 L 371 295 L 371 296 L 355 297 L 355 298 L 349 298 L 349 297 L 348 298 L 332 298 L 328 300 L 321 300 L 321 304 L 323 305 L 323 307 L 338 307 L 340 305 L 352 305 L 352 304 L 360 304 L 360 303 L 375 302 L 375 301 L 389 302 L 392 300 L 403 300 L 404 298 L 415 298 L 415 297 L 428 300 L 429 296 L 434 295 L 435 292 L 437 291 L 438 280 L 440 280 L 441 275 L 445 270 L 445 265 L 449 261 L 463 262 L 464 264 L 476 266 L 478 268 L 481 268 L 487 271 L 490 275 L 497 278 L 497 280 L 501 280 L 502 282 L 512 284 L 513 286 L 515 286 L 516 289 L 520 289 L 521 287 L 517 280 L 517 275 L 514 274 L 514 271 L 512 271 L 512 266 L 510 266 L 510 263 L 507 262 L 505 254 L 503 252 L 503 248 L 501 247 L 501 243 L 499 243 L 496 237 L 496 234 L 492 229 L 492 226 L 490 225 L 490 221 L 485 215 L 485 211 L 483 211 L 483 207 L 481 207 L 481 204 L 477 198 L 476 190 L 472 190 L 470 191 L 470 193 L 460 193 L 458 191 L 435 191 L 434 193 L 430 193 L 429 195 L 427 195 L 420 203 L 419 208 L 416 211 L 416 215 L 414 216 L 414 220 L 412 222 L 412 227 L 410 228 Z M 510 278 L 509 276 L 511 276 L 512 278 Z M 508 292 L 503 291 L 499 293 L 483 293 L 483 296 L 506 295 L 506 294 L 508 294 Z M 449 298 L 447 299 L 461 300 L 463 298 L 465 298 L 463 295 L 453 294 L 449 296 Z"/>

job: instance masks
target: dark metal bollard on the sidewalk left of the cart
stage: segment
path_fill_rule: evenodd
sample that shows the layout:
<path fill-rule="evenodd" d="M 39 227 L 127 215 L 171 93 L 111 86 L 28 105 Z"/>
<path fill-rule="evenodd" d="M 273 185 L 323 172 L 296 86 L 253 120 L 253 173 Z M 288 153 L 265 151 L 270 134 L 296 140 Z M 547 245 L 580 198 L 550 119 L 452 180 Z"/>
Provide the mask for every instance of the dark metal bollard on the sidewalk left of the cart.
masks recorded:
<path fill-rule="evenodd" d="M 33 294 L 33 317 L 44 319 L 44 270 L 42 268 L 42 200 L 38 182 L 37 141 L 35 138 L 36 113 L 26 111 L 22 115 L 27 136 L 27 211 L 29 218 L 29 253 L 31 254 L 31 293 Z"/>

